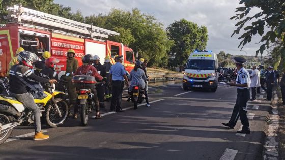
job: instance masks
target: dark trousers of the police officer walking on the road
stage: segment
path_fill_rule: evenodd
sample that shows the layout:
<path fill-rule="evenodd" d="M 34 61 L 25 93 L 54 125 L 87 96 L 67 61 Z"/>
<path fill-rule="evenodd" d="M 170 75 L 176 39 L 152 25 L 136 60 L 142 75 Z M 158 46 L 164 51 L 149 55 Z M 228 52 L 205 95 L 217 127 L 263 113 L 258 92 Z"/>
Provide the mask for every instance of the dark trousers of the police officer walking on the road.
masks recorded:
<path fill-rule="evenodd" d="M 249 89 L 237 89 L 237 91 L 237 100 L 229 124 L 235 127 L 240 117 L 241 123 L 243 125 L 242 129 L 249 130 L 249 122 L 247 118 L 247 101 L 250 99 L 250 91 Z"/>

